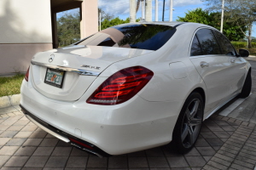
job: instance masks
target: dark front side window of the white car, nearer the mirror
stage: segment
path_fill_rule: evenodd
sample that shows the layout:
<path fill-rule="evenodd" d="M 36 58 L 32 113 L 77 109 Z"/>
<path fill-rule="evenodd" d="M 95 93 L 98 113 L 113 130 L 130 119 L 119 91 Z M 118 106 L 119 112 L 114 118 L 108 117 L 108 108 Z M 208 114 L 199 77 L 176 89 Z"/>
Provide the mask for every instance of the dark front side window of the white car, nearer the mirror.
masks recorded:
<path fill-rule="evenodd" d="M 236 55 L 236 51 L 231 45 L 230 41 L 224 37 L 224 35 L 218 31 L 214 31 L 217 39 L 218 39 L 218 44 L 221 48 L 222 54 L 225 55 Z"/>

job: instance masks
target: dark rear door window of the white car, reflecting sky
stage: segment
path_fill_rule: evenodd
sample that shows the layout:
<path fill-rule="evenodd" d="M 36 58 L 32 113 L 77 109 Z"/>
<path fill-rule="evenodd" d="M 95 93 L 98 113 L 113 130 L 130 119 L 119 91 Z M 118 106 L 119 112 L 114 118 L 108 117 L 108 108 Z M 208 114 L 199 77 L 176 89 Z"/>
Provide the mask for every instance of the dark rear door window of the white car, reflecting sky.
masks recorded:
<path fill-rule="evenodd" d="M 196 36 L 200 42 L 203 55 L 221 54 L 218 47 L 218 42 L 216 41 L 216 38 L 211 30 L 201 29 L 196 32 Z"/>

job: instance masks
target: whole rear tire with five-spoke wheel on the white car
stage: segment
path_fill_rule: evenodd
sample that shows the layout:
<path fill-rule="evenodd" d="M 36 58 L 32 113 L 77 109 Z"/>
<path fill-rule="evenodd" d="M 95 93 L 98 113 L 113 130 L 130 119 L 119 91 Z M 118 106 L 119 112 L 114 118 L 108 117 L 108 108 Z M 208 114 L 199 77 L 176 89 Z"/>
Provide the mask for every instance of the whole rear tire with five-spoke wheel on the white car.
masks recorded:
<path fill-rule="evenodd" d="M 198 139 L 204 114 L 201 94 L 194 92 L 186 99 L 172 133 L 172 142 L 167 145 L 183 154 L 191 150 Z"/>

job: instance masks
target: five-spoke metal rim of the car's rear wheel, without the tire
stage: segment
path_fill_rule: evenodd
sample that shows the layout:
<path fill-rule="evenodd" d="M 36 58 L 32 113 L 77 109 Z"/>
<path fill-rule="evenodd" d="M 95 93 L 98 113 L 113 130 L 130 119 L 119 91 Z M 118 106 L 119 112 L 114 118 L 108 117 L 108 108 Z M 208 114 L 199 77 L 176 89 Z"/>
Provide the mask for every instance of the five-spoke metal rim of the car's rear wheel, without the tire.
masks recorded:
<path fill-rule="evenodd" d="M 200 99 L 193 99 L 184 114 L 181 139 L 185 148 L 191 147 L 200 133 L 202 122 L 202 104 Z"/>

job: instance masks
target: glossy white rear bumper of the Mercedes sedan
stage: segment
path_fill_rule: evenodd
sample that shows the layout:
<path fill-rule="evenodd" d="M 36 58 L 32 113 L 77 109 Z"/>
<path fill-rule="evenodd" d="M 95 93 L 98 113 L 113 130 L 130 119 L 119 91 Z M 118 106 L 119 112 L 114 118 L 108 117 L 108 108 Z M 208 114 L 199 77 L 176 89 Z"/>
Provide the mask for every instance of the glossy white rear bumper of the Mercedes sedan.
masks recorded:
<path fill-rule="evenodd" d="M 126 154 L 168 144 L 183 101 L 148 102 L 139 96 L 119 105 L 90 105 L 49 99 L 23 81 L 20 105 L 33 120 L 63 136 L 86 141 L 108 155 Z M 40 121 L 38 121 L 40 120 Z M 40 123 L 45 125 L 44 123 Z M 60 133 L 58 133 L 60 134 Z"/>

